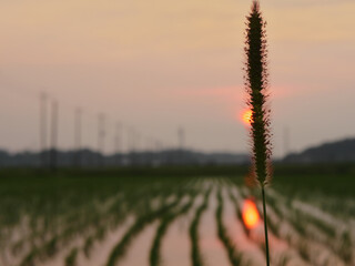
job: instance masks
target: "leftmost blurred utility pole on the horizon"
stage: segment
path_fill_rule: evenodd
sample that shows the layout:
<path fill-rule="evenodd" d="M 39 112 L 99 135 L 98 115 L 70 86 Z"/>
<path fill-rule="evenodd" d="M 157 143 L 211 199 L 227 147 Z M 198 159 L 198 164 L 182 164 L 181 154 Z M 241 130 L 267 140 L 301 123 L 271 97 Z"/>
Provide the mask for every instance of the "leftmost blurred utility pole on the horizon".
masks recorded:
<path fill-rule="evenodd" d="M 47 93 L 40 94 L 40 164 L 45 167 L 47 164 Z"/>

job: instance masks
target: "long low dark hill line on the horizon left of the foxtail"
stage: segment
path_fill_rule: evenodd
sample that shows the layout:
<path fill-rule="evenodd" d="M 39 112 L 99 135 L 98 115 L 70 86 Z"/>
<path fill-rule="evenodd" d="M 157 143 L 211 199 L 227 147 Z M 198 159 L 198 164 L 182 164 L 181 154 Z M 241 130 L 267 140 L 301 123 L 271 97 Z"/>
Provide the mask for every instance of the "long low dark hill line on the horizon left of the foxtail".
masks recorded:
<path fill-rule="evenodd" d="M 190 150 L 141 151 L 103 155 L 91 150 L 45 151 L 42 153 L 9 153 L 0 150 L 0 167 L 39 167 L 50 165 L 55 157 L 58 167 L 135 166 L 135 165 L 239 165 L 247 164 L 250 156 L 237 153 L 202 153 Z"/>

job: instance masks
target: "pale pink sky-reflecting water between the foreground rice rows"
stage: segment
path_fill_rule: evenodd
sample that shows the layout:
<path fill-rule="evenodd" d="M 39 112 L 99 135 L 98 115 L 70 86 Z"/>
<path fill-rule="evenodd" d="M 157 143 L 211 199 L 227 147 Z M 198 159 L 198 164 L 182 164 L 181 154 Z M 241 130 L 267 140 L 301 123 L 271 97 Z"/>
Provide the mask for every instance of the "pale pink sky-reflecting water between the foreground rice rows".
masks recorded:
<path fill-rule="evenodd" d="M 210 181 L 201 183 L 201 186 L 205 186 L 205 190 L 210 185 L 216 186 Z M 242 222 L 236 216 L 235 205 L 227 194 L 227 188 L 229 185 L 222 186 L 222 196 L 224 202 L 223 224 L 227 231 L 227 235 L 233 241 L 236 250 L 244 255 L 243 257 L 250 263 L 250 266 L 264 265 L 265 256 L 263 248 L 261 247 L 264 233 L 263 223 L 260 221 L 260 224 L 252 232 L 256 237 L 247 236 L 244 232 Z M 240 188 L 233 187 L 231 190 L 239 202 L 239 206 L 242 207 L 243 197 L 239 192 Z M 186 198 L 181 202 L 180 206 L 185 204 L 187 200 L 189 197 L 186 196 Z M 160 254 L 162 258 L 162 265 L 191 265 L 191 239 L 189 235 L 189 228 L 196 208 L 202 204 L 202 200 L 203 197 L 200 195 L 195 200 L 193 207 L 187 212 L 187 214 L 180 216 L 169 226 L 161 244 Z M 209 198 L 209 208 L 202 214 L 199 225 L 200 250 L 204 265 L 227 266 L 231 265 L 231 263 L 227 258 L 226 249 L 217 236 L 217 225 L 215 218 L 216 207 L 217 198 L 216 190 L 214 188 Z M 271 212 L 268 215 L 275 216 L 275 214 L 272 212 L 272 208 L 270 209 Z M 79 247 L 80 249 L 77 262 L 78 266 L 105 266 L 113 247 L 122 239 L 122 236 L 126 233 L 133 222 L 133 217 L 128 218 L 124 224 L 108 233 L 104 239 L 97 242 L 89 258 L 85 257 L 82 252 L 82 246 L 84 243 L 83 239 L 75 239 L 60 250 L 51 259 L 51 262 L 44 262 L 42 264 L 38 264 L 37 266 L 64 266 L 65 257 L 73 247 Z M 280 221 L 280 223 L 282 223 L 282 221 Z M 144 229 L 132 239 L 126 249 L 126 254 L 119 260 L 116 265 L 148 266 L 152 243 L 159 225 L 160 221 L 155 221 L 154 223 L 146 225 L 146 227 L 144 227 Z M 272 233 L 270 233 L 270 245 L 272 249 L 271 255 L 273 265 L 306 265 L 300 258 L 298 253 L 294 248 L 290 247 L 285 241 L 277 238 Z M 280 257 L 282 257 L 283 254 L 291 255 L 292 259 L 290 259 L 287 264 L 280 263 Z"/>

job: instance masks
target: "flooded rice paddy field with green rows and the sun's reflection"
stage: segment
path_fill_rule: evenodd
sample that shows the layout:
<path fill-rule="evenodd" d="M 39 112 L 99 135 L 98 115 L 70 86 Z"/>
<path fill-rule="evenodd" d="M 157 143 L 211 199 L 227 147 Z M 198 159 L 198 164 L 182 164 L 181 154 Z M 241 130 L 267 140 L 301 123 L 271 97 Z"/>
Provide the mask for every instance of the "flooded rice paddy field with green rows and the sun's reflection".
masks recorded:
<path fill-rule="evenodd" d="M 349 173 L 275 175 L 272 265 L 355 265 L 354 191 Z M 258 194 L 243 174 L 1 173 L 0 265 L 265 265 Z"/>

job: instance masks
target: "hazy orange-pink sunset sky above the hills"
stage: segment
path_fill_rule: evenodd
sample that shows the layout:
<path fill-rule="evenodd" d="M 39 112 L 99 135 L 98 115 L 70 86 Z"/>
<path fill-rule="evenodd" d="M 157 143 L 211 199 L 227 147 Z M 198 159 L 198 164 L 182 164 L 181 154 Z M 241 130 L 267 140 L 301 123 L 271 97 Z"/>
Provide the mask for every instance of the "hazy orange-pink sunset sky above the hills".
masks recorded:
<path fill-rule="evenodd" d="M 59 147 L 97 146 L 97 114 L 202 151 L 245 152 L 246 0 L 1 0 L 0 149 L 39 149 L 39 93 L 59 101 Z M 355 136 L 355 1 L 262 0 L 274 154 Z"/>

